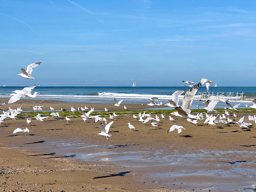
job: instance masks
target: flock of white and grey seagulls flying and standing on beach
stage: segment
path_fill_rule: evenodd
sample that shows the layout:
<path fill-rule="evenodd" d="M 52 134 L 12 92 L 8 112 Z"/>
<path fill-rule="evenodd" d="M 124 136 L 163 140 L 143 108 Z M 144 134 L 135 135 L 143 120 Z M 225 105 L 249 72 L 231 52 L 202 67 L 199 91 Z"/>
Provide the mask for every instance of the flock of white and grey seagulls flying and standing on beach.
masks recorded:
<path fill-rule="evenodd" d="M 27 78 L 27 79 L 35 79 L 34 77 L 31 76 L 31 73 L 33 71 L 32 68 L 35 68 L 35 67 L 39 66 L 40 64 L 41 64 L 41 62 L 39 62 L 39 63 L 32 63 L 32 64 L 28 65 L 26 71 L 25 71 L 25 69 L 21 68 L 22 73 L 20 73 L 18 75 L 20 75 L 20 76 L 22 76 L 24 78 Z M 196 83 L 194 83 L 192 81 L 182 81 L 182 82 L 189 84 L 188 86 L 190 86 L 191 88 L 185 93 L 181 106 L 179 105 L 179 96 L 182 93 L 184 93 L 185 90 L 177 90 L 177 91 L 175 91 L 172 94 L 172 100 L 168 100 L 169 103 L 165 104 L 166 106 L 172 107 L 172 108 L 174 108 L 176 110 L 175 112 L 170 113 L 171 115 L 187 119 L 188 123 L 192 123 L 192 124 L 195 124 L 195 125 L 197 125 L 197 123 L 199 123 L 200 121 L 203 121 L 203 124 L 211 124 L 213 126 L 216 125 L 216 124 L 220 124 L 220 123 L 222 123 L 222 124 L 234 123 L 234 124 L 237 124 L 237 126 L 240 126 L 241 128 L 249 129 L 249 127 L 252 126 L 252 124 L 249 123 L 250 121 L 253 121 L 256 124 L 256 116 L 249 116 L 248 117 L 249 118 L 249 122 L 247 122 L 247 121 L 244 122 L 244 116 L 242 118 L 240 118 L 239 121 L 236 121 L 235 119 L 237 117 L 239 117 L 239 116 L 237 116 L 234 113 L 233 116 L 235 117 L 235 119 L 231 120 L 229 118 L 231 116 L 231 114 L 227 110 L 225 111 L 225 114 L 222 114 L 222 115 L 217 114 L 217 115 L 213 116 L 212 112 L 214 112 L 214 113 L 217 112 L 216 110 L 214 110 L 214 107 L 216 106 L 216 104 L 218 102 L 225 102 L 227 104 L 227 106 L 229 107 L 227 109 L 231 109 L 231 110 L 237 110 L 236 108 L 240 105 L 240 103 L 239 103 L 239 104 L 237 104 L 235 106 L 232 106 L 228 101 L 223 100 L 219 95 L 211 96 L 208 100 L 205 100 L 205 101 L 204 100 L 200 100 L 203 103 L 205 103 L 205 105 L 206 105 L 206 108 L 204 108 L 204 109 L 206 109 L 205 117 L 203 116 L 203 113 L 200 113 L 200 114 L 198 113 L 198 114 L 194 114 L 194 115 L 191 114 L 190 107 L 191 107 L 192 101 L 194 100 L 194 97 L 195 97 L 195 94 L 196 94 L 198 88 L 205 83 L 206 84 L 206 90 L 208 92 L 209 91 L 209 86 L 210 86 L 211 83 L 213 83 L 213 81 L 205 79 L 205 78 L 202 78 L 202 80 L 198 84 L 196 84 Z M 195 85 L 192 85 L 192 84 L 195 84 Z M 14 103 L 14 102 L 20 100 L 21 97 L 32 97 L 32 98 L 35 98 L 36 94 L 41 94 L 39 92 L 34 92 L 33 94 L 31 93 L 32 90 L 35 87 L 36 87 L 36 84 L 32 85 L 30 87 L 25 87 L 22 90 L 15 90 L 15 91 L 13 91 L 12 97 L 10 98 L 10 100 L 8 101 L 7 104 Z M 156 101 L 157 99 L 158 98 L 156 98 L 156 97 L 150 98 L 150 103 L 147 104 L 147 105 L 149 105 L 149 106 L 164 105 L 162 102 L 157 102 Z M 121 107 L 121 103 L 122 102 L 123 102 L 123 100 L 119 100 L 117 102 L 117 100 L 114 99 L 114 103 L 115 103 L 114 106 Z M 256 99 L 254 99 L 252 102 L 253 102 L 252 106 L 246 106 L 246 107 L 256 108 Z M 1 104 L 1 106 L 4 106 L 4 105 L 5 105 L 5 103 Z M 34 111 L 38 111 L 38 110 L 41 111 L 41 110 L 43 110 L 42 109 L 43 107 L 44 106 L 34 106 L 33 110 Z M 3 114 L 0 115 L 0 124 L 7 117 L 16 119 L 17 118 L 16 116 L 19 113 L 22 112 L 21 108 L 22 108 L 21 106 L 19 108 L 17 108 L 17 109 L 11 109 L 9 107 L 8 110 L 6 110 L 6 111 L 3 110 Z M 60 109 L 61 109 L 61 111 L 67 111 L 63 107 L 61 107 Z M 124 105 L 124 110 L 126 110 L 126 109 L 127 108 Z M 225 109 L 226 109 L 226 107 L 225 107 Z M 52 108 L 52 106 L 50 106 L 50 110 L 53 111 L 55 109 Z M 101 122 L 100 126 L 99 126 L 101 132 L 98 133 L 98 135 L 106 136 L 106 138 L 108 140 L 108 137 L 112 136 L 112 135 L 108 134 L 109 129 L 110 129 L 111 125 L 114 123 L 115 118 L 117 117 L 117 115 L 115 113 L 109 114 L 109 119 L 110 120 L 114 119 L 114 121 L 111 121 L 110 123 L 107 124 L 108 120 L 105 117 L 100 117 L 101 115 L 96 115 L 96 116 L 92 116 L 91 115 L 91 113 L 94 111 L 94 107 L 91 108 L 91 110 L 89 110 L 88 112 L 85 113 L 84 111 L 86 111 L 86 110 L 89 110 L 86 106 L 84 108 L 83 107 L 77 108 L 77 110 L 75 108 L 73 108 L 73 107 L 70 108 L 70 111 L 73 112 L 73 113 L 79 111 L 82 114 L 81 117 L 82 117 L 84 122 L 87 119 L 92 119 L 92 118 L 94 118 L 94 124 L 97 123 L 98 121 Z M 110 111 L 107 108 L 105 108 L 104 110 L 107 113 L 110 113 Z M 10 115 L 10 113 L 11 113 L 11 115 Z M 210 113 L 210 114 L 208 114 L 208 113 Z M 62 118 L 58 112 L 52 112 L 50 114 L 50 116 Z M 219 120 L 217 120 L 218 116 L 219 116 Z M 46 119 L 48 117 L 49 116 L 43 116 L 40 113 L 38 113 L 38 115 L 35 116 L 36 120 L 41 121 L 41 122 L 44 121 L 43 119 Z M 157 115 L 152 117 L 150 113 L 146 114 L 146 110 L 144 111 L 143 114 L 140 111 L 138 116 L 133 114 L 132 117 L 135 120 L 136 120 L 136 118 L 139 118 L 138 121 L 141 122 L 142 124 L 150 123 L 153 128 L 160 126 L 159 125 L 159 121 L 161 121 L 160 118 Z M 70 121 L 70 118 L 68 118 L 68 117 L 65 117 L 65 118 L 66 118 L 67 122 Z M 165 118 L 164 115 L 161 114 L 161 119 L 163 120 L 164 118 Z M 31 120 L 29 120 L 29 119 L 26 119 L 26 120 L 27 120 L 27 124 L 29 125 L 31 123 Z M 170 120 L 170 122 L 172 122 L 174 119 L 171 116 L 169 116 L 169 120 Z M 104 126 L 104 123 L 105 123 L 105 126 Z M 136 127 L 134 125 L 132 125 L 130 122 L 127 123 L 127 124 L 128 124 L 128 127 L 130 128 L 130 131 L 136 129 Z M 186 130 L 183 126 L 172 125 L 168 129 L 167 133 L 168 132 L 172 132 L 175 129 L 177 129 L 177 131 L 178 131 L 177 134 L 179 134 L 183 130 Z M 15 134 L 17 132 L 24 132 L 24 134 L 26 134 L 26 132 L 29 132 L 29 130 L 28 130 L 28 128 L 26 128 L 26 129 L 17 128 L 17 129 L 15 129 L 12 132 L 12 134 Z"/>

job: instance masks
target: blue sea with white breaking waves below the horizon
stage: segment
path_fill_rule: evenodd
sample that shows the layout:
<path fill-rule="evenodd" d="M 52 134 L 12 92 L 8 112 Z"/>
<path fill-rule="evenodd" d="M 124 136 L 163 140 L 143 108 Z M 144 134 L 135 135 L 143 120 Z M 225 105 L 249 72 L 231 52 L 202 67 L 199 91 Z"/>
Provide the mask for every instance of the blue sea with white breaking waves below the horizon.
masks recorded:
<path fill-rule="evenodd" d="M 24 87 L 2 86 L 0 87 L 0 98 L 10 98 L 14 90 L 22 90 Z M 150 103 L 152 97 L 156 97 L 158 102 L 168 103 L 172 99 L 172 93 L 177 90 L 188 91 L 190 87 L 61 87 L 61 86 L 36 86 L 33 92 L 40 92 L 35 99 L 58 100 L 66 102 L 83 103 L 113 103 L 114 99 L 124 100 L 123 103 Z M 179 97 L 179 104 L 186 92 Z M 245 108 L 245 105 L 252 105 L 252 100 L 256 99 L 256 87 L 214 87 L 210 86 L 209 92 L 205 85 L 199 87 L 191 108 L 206 107 L 199 99 L 206 100 L 211 95 L 221 95 L 224 100 L 232 105 L 241 103 L 238 108 Z M 27 98 L 26 98 L 27 99 Z M 197 107 L 198 106 L 198 107 Z M 226 106 L 224 102 L 219 102 L 216 108 Z"/>

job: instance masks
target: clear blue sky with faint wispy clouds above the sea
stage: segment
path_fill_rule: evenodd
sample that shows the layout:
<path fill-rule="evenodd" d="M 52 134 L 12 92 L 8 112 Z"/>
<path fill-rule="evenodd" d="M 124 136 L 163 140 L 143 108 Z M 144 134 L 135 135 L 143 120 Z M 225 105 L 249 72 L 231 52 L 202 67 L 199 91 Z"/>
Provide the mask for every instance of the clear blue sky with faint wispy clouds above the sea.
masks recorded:
<path fill-rule="evenodd" d="M 256 1 L 0 0 L 1 84 L 255 86 Z M 29 80 L 20 68 L 43 62 Z"/>

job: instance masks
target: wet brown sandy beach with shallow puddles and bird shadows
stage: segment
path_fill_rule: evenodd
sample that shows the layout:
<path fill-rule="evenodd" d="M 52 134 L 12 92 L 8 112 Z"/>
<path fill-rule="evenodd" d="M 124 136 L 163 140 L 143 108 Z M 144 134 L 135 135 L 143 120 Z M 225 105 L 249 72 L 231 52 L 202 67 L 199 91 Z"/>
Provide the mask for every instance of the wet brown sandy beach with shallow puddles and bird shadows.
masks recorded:
<path fill-rule="evenodd" d="M 22 103 L 22 109 L 29 108 L 29 101 Z M 54 108 L 82 105 L 48 102 L 43 105 Z M 12 107 L 16 105 L 20 103 Z M 108 108 L 110 105 L 113 104 Z M 135 105 L 134 108 L 139 107 Z M 97 104 L 99 109 L 105 106 Z M 202 126 L 203 122 L 196 126 L 180 117 L 170 123 L 168 116 L 165 117 L 158 128 L 141 124 L 132 116 L 118 117 L 110 128 L 109 140 L 97 135 L 100 123 L 93 124 L 93 119 L 84 123 L 80 117 L 71 118 L 67 123 L 65 119 L 49 118 L 44 122 L 32 120 L 29 125 L 25 119 L 6 120 L 0 125 L 0 188 L 245 191 L 254 185 L 255 129 L 245 131 L 235 124 Z M 130 131 L 128 122 L 136 127 L 134 131 Z M 176 131 L 167 134 L 173 124 L 186 130 L 179 135 Z M 30 132 L 11 135 L 17 127 L 28 127 Z"/>

